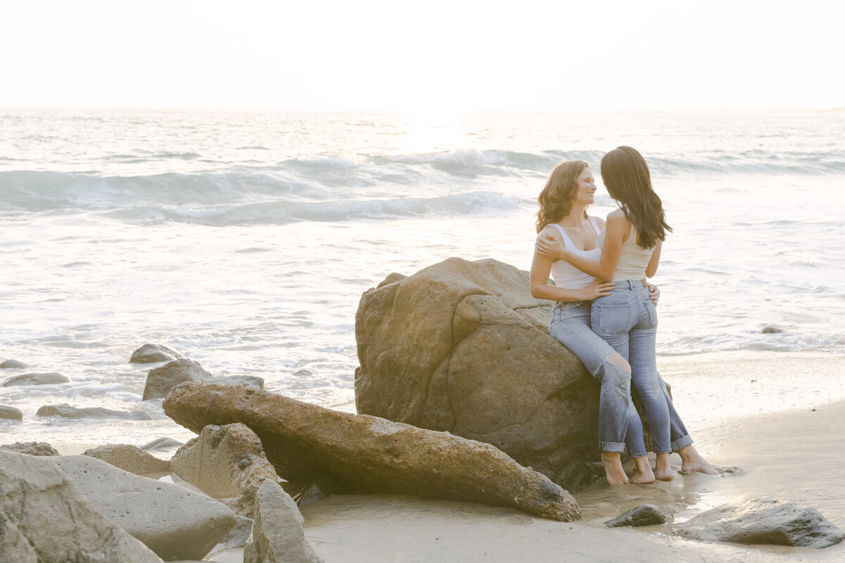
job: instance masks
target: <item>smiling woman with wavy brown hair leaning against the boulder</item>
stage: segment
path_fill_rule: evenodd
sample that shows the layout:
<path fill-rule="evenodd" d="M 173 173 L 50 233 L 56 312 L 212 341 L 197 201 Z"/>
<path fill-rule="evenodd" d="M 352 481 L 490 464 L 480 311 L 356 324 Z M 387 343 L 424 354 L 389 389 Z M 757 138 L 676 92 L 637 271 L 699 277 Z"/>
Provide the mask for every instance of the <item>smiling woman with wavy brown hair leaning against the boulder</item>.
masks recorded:
<path fill-rule="evenodd" d="M 596 184 L 590 165 L 569 160 L 555 166 L 537 198 L 537 232 L 565 245 L 569 252 L 597 260 L 602 219 L 586 214 L 594 201 Z M 565 242 L 564 242 L 565 241 Z M 555 285 L 549 285 L 551 273 Z M 628 483 L 620 454 L 627 443 L 634 457 L 635 483 L 652 483 L 654 474 L 646 457 L 642 423 L 630 398 L 630 365 L 590 328 L 590 305 L 596 298 L 611 295 L 614 284 L 594 279 L 569 263 L 555 262 L 541 252 L 534 253 L 531 292 L 539 299 L 557 301 L 549 319 L 549 333 L 575 354 L 601 382 L 598 440 L 602 464 L 610 485 Z M 655 299 L 659 292 L 655 291 Z"/>

